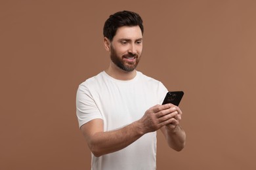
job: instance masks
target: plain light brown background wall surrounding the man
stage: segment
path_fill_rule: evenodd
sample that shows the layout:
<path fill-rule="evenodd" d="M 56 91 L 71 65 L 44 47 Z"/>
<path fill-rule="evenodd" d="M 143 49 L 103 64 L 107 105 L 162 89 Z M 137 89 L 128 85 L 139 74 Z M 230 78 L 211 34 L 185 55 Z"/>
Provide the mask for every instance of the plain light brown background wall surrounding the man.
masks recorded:
<path fill-rule="evenodd" d="M 108 67 L 102 27 L 144 20 L 138 67 L 181 103 L 186 148 L 158 133 L 158 169 L 255 169 L 256 1 L 0 1 L 0 169 L 89 169 L 78 84 Z"/>

